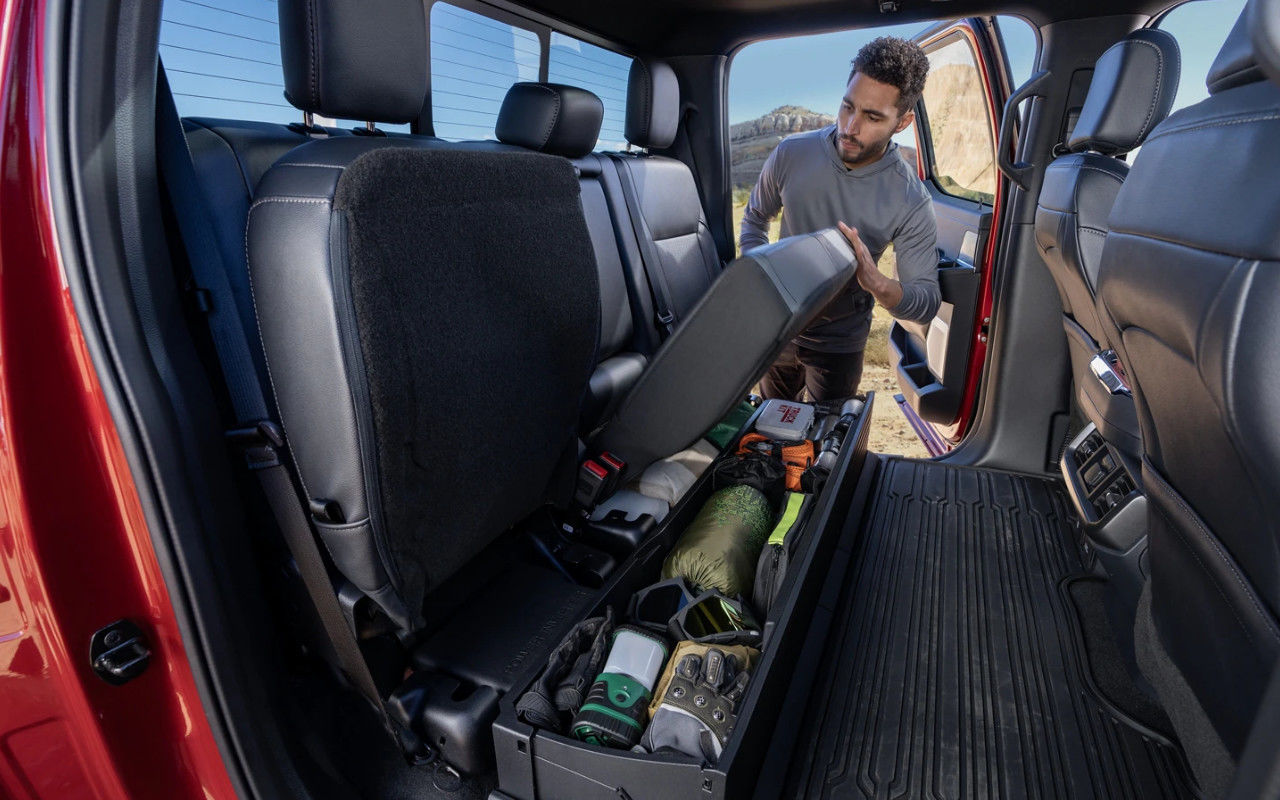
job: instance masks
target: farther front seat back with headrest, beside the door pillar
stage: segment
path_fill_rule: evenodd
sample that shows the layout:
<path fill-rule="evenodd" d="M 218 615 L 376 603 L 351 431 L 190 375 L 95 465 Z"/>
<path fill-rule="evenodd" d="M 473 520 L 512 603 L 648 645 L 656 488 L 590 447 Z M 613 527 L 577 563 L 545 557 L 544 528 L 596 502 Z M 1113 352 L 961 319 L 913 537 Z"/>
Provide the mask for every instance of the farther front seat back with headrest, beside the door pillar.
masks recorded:
<path fill-rule="evenodd" d="M 1107 216 L 1129 174 L 1120 156 L 1169 115 L 1179 72 L 1178 41 L 1166 31 L 1134 31 L 1103 52 L 1066 145 L 1070 152 L 1044 170 L 1036 206 L 1036 244 L 1062 298 L 1076 402 L 1105 439 L 1130 453 L 1140 447 L 1133 398 L 1091 369 L 1111 347 L 1094 291 Z"/>

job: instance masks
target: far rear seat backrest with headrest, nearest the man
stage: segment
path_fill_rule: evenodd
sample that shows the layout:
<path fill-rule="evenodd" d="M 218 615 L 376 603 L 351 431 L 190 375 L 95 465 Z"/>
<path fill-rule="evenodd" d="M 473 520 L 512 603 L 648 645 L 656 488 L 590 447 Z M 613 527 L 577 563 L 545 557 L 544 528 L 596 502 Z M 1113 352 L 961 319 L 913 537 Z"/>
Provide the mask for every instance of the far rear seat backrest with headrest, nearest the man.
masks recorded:
<path fill-rule="evenodd" d="M 627 79 L 626 138 L 643 150 L 676 141 L 680 84 L 664 61 L 636 59 Z M 611 154 L 653 296 L 657 332 L 667 335 L 707 292 L 722 265 L 694 174 L 684 161 L 646 152 Z M 645 320 L 649 323 L 649 320 Z"/>

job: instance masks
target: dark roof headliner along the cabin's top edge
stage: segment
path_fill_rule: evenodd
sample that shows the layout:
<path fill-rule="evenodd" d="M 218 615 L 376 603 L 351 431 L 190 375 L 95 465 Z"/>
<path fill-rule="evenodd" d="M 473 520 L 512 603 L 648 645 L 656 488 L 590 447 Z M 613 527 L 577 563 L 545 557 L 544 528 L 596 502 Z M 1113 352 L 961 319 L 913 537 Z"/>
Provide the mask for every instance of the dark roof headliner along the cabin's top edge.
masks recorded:
<path fill-rule="evenodd" d="M 1155 14 L 1171 0 L 520 0 L 530 10 L 570 23 L 641 54 L 719 54 L 772 36 L 928 22 L 982 14 L 1019 14 L 1036 24 L 1114 14 Z"/>

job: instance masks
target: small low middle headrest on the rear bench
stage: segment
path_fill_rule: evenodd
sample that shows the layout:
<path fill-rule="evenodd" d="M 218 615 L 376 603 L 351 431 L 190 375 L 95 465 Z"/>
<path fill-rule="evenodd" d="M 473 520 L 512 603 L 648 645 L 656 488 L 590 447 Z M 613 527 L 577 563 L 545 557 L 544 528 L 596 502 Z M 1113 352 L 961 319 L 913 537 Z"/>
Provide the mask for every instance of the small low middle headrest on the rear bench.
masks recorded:
<path fill-rule="evenodd" d="M 604 104 L 576 86 L 515 83 L 498 110 L 498 141 L 577 159 L 600 137 Z"/>

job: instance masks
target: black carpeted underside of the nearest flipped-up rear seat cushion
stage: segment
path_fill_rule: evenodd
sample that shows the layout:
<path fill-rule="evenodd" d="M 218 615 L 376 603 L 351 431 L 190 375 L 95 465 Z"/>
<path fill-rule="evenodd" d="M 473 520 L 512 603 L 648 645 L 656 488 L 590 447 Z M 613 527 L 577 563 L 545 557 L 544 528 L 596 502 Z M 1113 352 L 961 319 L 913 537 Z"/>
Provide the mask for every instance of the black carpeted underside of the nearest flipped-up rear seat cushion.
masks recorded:
<path fill-rule="evenodd" d="M 596 268 L 553 156 L 381 148 L 335 209 L 385 543 L 416 607 L 547 498 L 595 365 Z"/>

